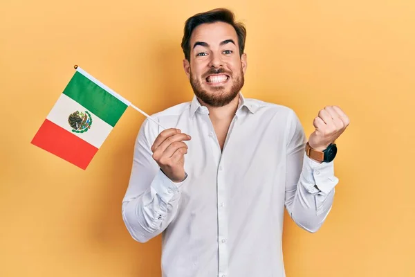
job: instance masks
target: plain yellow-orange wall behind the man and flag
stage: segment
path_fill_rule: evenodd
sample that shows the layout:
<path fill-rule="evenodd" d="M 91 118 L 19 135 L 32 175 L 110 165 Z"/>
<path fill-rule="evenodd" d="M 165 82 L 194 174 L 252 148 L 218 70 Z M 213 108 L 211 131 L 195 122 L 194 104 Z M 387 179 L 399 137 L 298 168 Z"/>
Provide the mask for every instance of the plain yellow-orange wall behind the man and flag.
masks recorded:
<path fill-rule="evenodd" d="M 127 233 L 121 201 L 144 116 L 127 109 L 86 171 L 30 144 L 79 64 L 151 114 L 191 100 L 183 24 L 232 8 L 248 28 L 243 93 L 313 131 L 351 118 L 322 229 L 286 219 L 287 276 L 415 276 L 414 1 L 2 0 L 0 276 L 160 276 L 160 237 Z"/>

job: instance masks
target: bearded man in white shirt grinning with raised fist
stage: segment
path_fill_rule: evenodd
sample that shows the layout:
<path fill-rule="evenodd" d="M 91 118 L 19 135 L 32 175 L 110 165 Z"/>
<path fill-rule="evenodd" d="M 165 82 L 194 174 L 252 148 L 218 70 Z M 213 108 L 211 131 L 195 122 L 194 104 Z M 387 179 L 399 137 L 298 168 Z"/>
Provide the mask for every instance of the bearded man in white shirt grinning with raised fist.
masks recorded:
<path fill-rule="evenodd" d="M 152 116 L 169 129 L 140 128 L 122 217 L 138 242 L 163 233 L 163 276 L 285 276 L 284 206 L 309 232 L 331 209 L 333 143 L 349 119 L 325 107 L 307 140 L 293 110 L 243 98 L 245 38 L 229 10 L 187 19 L 195 96 Z"/>

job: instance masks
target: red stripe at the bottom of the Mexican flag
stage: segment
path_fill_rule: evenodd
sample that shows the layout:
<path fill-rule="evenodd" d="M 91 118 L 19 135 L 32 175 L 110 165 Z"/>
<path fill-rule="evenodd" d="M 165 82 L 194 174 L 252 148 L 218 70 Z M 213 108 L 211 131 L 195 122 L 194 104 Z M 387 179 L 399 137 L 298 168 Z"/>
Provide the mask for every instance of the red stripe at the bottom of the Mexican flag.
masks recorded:
<path fill-rule="evenodd" d="M 95 146 L 47 119 L 31 143 L 84 170 L 98 152 Z"/>

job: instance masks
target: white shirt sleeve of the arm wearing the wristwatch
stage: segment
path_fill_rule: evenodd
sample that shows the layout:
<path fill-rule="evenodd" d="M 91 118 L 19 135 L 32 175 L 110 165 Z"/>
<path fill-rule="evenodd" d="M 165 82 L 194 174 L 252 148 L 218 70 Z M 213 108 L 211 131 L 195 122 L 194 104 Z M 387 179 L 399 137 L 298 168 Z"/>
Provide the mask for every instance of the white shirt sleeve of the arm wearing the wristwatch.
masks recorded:
<path fill-rule="evenodd" d="M 317 163 L 305 152 L 306 136 L 299 118 L 291 111 L 287 126 L 285 205 L 295 223 L 314 233 L 329 214 L 338 184 L 334 161 Z"/>

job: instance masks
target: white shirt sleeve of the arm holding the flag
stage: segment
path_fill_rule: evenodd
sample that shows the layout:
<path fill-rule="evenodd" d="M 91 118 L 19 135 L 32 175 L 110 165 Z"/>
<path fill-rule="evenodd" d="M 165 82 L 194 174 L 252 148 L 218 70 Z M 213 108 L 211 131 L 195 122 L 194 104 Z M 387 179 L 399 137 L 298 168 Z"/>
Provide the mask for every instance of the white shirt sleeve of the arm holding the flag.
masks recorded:
<path fill-rule="evenodd" d="M 147 242 L 162 233 L 174 219 L 181 186 L 170 180 L 154 161 L 151 145 L 158 126 L 145 120 L 134 146 L 127 192 L 122 200 L 122 219 L 134 240 Z"/>

